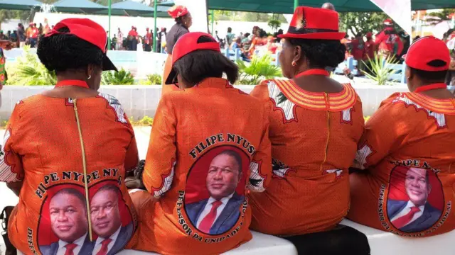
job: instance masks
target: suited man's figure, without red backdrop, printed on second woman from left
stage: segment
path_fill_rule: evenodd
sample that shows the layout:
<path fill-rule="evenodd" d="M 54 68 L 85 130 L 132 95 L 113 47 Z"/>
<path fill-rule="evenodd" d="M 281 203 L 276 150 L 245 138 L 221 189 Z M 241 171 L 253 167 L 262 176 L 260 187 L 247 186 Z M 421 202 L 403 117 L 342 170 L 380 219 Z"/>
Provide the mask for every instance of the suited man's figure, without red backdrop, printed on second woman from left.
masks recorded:
<path fill-rule="evenodd" d="M 223 234 L 234 227 L 240 217 L 245 196 L 235 192 L 242 179 L 242 158 L 225 150 L 213 158 L 205 185 L 210 198 L 185 205 L 191 223 L 206 234 Z"/>

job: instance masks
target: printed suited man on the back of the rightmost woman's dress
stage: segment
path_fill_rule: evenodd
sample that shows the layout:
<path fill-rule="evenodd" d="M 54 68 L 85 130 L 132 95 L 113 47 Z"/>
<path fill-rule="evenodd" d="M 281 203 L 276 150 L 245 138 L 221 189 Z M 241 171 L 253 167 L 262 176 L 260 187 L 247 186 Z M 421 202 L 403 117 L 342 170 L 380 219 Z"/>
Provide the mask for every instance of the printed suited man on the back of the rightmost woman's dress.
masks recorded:
<path fill-rule="evenodd" d="M 441 210 L 428 203 L 432 185 L 427 169 L 407 170 L 405 189 L 409 200 L 387 200 L 387 215 L 392 225 L 402 232 L 421 232 L 429 229 L 441 217 Z"/>

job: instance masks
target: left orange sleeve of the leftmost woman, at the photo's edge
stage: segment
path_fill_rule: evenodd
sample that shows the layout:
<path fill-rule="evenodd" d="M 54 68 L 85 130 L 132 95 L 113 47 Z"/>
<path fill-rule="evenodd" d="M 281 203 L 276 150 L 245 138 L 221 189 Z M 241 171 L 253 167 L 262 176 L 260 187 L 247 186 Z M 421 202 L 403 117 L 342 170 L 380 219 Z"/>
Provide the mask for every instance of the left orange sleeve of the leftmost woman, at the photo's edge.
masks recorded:
<path fill-rule="evenodd" d="M 23 166 L 21 156 L 14 151 L 20 120 L 21 102 L 16 104 L 6 126 L 3 146 L 0 151 L 0 181 L 11 183 L 23 180 Z"/>

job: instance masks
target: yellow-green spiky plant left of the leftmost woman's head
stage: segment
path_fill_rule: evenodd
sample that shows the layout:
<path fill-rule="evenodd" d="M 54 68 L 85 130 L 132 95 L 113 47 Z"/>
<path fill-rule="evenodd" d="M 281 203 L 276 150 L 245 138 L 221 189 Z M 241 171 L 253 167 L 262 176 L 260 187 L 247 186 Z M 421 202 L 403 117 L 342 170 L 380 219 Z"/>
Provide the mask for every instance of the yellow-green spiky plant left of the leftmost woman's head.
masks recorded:
<path fill-rule="evenodd" d="M 10 85 L 55 85 L 57 77 L 55 72 L 49 72 L 38 60 L 30 47 L 23 47 L 23 55 L 18 57 L 16 63 L 9 68 Z"/>

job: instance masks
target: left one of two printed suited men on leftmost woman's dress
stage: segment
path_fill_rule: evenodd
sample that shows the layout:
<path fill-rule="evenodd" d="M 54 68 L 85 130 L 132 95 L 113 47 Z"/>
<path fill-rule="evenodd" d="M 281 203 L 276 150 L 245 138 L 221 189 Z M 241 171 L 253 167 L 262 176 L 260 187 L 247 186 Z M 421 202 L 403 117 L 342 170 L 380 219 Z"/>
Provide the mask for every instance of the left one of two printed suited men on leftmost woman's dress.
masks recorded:
<path fill-rule="evenodd" d="M 58 242 L 40 246 L 44 255 L 91 254 L 93 244 L 87 234 L 85 198 L 74 188 L 63 188 L 50 198 L 50 227 Z"/>

